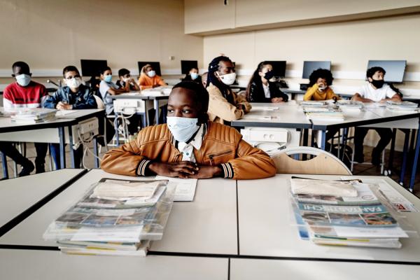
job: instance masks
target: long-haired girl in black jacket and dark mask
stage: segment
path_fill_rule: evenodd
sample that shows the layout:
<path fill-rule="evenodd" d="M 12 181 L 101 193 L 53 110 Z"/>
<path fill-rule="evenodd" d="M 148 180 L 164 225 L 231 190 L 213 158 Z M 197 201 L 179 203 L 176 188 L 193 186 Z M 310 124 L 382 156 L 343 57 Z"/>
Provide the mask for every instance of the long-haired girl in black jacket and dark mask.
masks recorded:
<path fill-rule="evenodd" d="M 271 81 L 272 78 L 274 78 L 272 64 L 260 62 L 246 88 L 248 102 L 287 102 L 288 95 L 279 90 L 279 87 Z"/>

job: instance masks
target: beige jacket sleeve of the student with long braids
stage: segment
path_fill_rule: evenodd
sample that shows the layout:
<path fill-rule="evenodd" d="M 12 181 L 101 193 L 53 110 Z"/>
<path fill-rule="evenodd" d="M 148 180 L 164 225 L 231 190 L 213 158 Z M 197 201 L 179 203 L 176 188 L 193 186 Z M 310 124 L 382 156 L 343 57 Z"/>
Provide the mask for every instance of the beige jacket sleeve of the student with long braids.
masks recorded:
<path fill-rule="evenodd" d="M 244 111 L 237 109 L 236 106 L 230 104 L 228 100 L 223 97 L 220 90 L 217 87 L 207 87 L 209 91 L 209 113 L 212 113 L 222 120 L 228 122 L 232 120 L 239 120 L 244 116 Z"/>

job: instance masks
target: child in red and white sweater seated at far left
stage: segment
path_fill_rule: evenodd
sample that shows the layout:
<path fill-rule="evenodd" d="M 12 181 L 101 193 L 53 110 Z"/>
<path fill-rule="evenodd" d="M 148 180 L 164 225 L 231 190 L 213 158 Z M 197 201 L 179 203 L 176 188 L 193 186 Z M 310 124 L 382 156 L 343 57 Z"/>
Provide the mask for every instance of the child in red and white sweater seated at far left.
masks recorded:
<path fill-rule="evenodd" d="M 16 82 L 8 85 L 3 91 L 3 106 L 5 110 L 15 108 L 38 108 L 43 99 L 48 96 L 48 92 L 43 85 L 31 80 L 29 65 L 25 62 L 15 62 L 12 66 L 13 78 Z M 45 172 L 45 155 L 47 155 L 48 144 L 35 143 L 36 173 Z M 34 164 L 19 153 L 10 142 L 0 142 L 0 151 L 14 160 L 18 165 L 22 165 L 19 176 L 29 175 L 34 170 Z"/>

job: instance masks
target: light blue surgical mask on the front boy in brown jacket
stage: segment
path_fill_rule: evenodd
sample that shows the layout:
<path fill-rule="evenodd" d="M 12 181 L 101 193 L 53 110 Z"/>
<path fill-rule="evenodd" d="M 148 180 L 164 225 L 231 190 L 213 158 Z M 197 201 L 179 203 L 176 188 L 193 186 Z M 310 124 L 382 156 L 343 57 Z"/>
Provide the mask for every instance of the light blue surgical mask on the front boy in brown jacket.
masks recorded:
<path fill-rule="evenodd" d="M 186 142 L 200 128 L 197 118 L 167 117 L 167 126 L 176 141 Z"/>

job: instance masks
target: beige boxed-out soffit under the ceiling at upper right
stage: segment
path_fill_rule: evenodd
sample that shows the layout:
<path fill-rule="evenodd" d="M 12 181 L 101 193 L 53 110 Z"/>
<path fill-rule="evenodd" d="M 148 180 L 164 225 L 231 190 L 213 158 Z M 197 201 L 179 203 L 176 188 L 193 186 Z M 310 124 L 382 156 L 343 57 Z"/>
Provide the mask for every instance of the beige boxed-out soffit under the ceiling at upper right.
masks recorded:
<path fill-rule="evenodd" d="M 419 0 L 185 0 L 186 34 L 232 31 L 356 20 L 413 13 Z"/>

